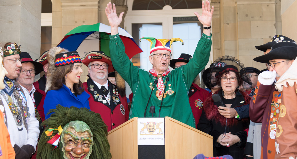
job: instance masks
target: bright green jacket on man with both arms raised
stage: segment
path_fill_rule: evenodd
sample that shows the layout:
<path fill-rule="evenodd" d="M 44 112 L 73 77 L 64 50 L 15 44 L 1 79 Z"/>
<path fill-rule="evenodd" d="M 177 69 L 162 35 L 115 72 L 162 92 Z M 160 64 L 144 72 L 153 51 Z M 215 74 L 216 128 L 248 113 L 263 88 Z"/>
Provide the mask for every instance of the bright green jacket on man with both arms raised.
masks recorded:
<path fill-rule="evenodd" d="M 113 67 L 129 84 L 133 92 L 129 119 L 133 117 L 144 117 L 146 104 L 151 93 L 150 86 L 154 86 L 154 81 L 157 78 L 152 76 L 151 73 L 133 66 L 133 63 L 130 62 L 125 53 L 125 47 L 121 38 L 119 38 L 119 34 L 110 35 L 109 37 L 109 49 Z M 189 104 L 188 92 L 195 77 L 208 63 L 210 50 L 211 36 L 203 34 L 189 63 L 172 70 L 167 76 L 163 77 L 164 83 L 165 79 L 169 77 L 165 91 L 171 88 L 174 93 L 171 95 L 167 94 L 163 99 L 160 117 L 168 116 L 191 127 L 195 127 L 195 119 Z M 150 106 L 156 107 L 154 117 L 159 116 L 161 100 L 155 95 L 156 91 L 157 86 L 154 86 L 154 91 L 146 110 L 146 117 L 151 117 L 151 113 L 149 113 Z"/>

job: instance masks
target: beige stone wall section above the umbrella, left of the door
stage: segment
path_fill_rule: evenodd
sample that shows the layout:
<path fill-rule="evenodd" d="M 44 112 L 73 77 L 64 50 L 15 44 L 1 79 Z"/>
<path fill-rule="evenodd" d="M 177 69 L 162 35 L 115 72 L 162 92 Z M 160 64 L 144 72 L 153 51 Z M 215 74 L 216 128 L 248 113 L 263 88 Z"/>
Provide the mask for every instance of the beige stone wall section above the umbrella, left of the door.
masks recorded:
<path fill-rule="evenodd" d="M 52 46 L 80 25 L 98 23 L 99 0 L 53 0 Z"/>

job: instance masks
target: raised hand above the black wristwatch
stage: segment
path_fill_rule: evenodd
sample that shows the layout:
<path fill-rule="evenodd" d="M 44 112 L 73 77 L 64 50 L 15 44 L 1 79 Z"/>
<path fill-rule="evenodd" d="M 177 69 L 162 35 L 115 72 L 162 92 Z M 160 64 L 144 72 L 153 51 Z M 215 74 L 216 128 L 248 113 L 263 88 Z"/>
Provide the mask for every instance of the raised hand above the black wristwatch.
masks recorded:
<path fill-rule="evenodd" d="M 200 16 L 199 13 L 194 12 L 197 16 L 199 22 L 203 25 L 203 27 L 211 26 L 211 18 L 212 14 L 214 13 L 214 6 L 210 7 L 210 2 L 206 0 L 205 5 L 204 1 L 202 1 L 202 15 Z"/>

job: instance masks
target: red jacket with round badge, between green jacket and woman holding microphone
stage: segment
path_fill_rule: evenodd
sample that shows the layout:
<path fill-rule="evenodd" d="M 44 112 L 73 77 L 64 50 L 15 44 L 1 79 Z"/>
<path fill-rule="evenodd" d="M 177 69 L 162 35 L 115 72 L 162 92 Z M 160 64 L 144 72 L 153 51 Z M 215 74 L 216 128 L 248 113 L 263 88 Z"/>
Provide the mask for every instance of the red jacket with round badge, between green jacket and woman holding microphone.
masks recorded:
<path fill-rule="evenodd" d="M 209 92 L 200 88 L 197 84 L 192 83 L 188 95 L 197 129 L 197 124 L 202 114 L 204 101 L 209 96 Z"/>

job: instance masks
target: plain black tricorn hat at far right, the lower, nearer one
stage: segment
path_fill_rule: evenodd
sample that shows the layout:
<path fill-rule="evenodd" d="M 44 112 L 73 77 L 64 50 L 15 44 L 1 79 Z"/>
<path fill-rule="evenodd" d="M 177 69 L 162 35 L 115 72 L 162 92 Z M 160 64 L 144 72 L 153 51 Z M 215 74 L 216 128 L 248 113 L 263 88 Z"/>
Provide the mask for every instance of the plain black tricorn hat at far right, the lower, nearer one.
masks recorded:
<path fill-rule="evenodd" d="M 271 47 L 271 51 L 265 55 L 254 58 L 260 63 L 269 63 L 269 60 L 285 59 L 294 60 L 297 55 L 297 45 L 293 42 L 279 42 Z"/>

